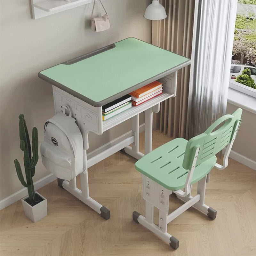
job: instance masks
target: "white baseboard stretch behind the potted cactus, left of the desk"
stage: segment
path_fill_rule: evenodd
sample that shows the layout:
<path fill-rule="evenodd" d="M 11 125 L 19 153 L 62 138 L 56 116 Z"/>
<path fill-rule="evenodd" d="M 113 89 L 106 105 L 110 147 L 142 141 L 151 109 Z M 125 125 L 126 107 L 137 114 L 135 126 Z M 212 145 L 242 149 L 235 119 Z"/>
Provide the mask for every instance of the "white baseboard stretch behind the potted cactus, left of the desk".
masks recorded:
<path fill-rule="evenodd" d="M 44 187 L 45 185 L 51 183 L 52 181 L 57 180 L 57 177 L 54 176 L 52 173 L 45 176 L 44 178 L 37 180 L 34 183 L 35 190 Z M 23 197 L 28 195 L 27 188 L 22 188 L 18 192 L 12 194 L 11 196 L 5 197 L 3 200 L 0 201 L 0 210 L 4 209 L 5 207 L 19 201 Z"/>

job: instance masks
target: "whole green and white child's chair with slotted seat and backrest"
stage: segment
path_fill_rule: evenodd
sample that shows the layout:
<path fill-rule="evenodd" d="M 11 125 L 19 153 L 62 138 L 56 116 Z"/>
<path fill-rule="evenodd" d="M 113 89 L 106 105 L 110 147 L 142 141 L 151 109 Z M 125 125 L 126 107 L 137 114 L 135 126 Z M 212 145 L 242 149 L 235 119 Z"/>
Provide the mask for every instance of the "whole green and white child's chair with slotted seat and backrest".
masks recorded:
<path fill-rule="evenodd" d="M 216 120 L 204 133 L 188 140 L 171 140 L 143 156 L 135 168 L 143 180 L 145 217 L 134 211 L 132 219 L 170 244 L 179 247 L 179 240 L 167 233 L 167 224 L 193 206 L 212 220 L 217 212 L 204 204 L 206 182 L 213 167 L 223 170 L 241 122 L 242 109 Z M 225 122 L 219 129 L 216 128 Z M 213 131 L 215 129 L 215 131 Z M 223 165 L 216 163 L 216 154 L 227 146 Z M 196 196 L 191 196 L 191 184 L 197 183 Z M 182 190 L 181 190 L 182 189 Z M 168 215 L 169 196 L 174 193 L 185 202 Z M 153 223 L 154 206 L 159 209 L 159 224 Z"/>

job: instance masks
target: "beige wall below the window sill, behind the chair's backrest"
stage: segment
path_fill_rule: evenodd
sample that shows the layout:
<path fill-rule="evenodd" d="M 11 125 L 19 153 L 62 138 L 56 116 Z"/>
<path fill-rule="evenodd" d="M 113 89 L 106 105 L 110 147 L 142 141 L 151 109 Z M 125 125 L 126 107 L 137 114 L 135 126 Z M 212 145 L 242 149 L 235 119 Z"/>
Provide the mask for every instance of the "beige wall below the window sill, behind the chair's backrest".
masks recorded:
<path fill-rule="evenodd" d="M 227 114 L 232 114 L 238 107 L 227 104 Z M 242 121 L 232 150 L 256 162 L 256 115 L 243 109 Z"/>

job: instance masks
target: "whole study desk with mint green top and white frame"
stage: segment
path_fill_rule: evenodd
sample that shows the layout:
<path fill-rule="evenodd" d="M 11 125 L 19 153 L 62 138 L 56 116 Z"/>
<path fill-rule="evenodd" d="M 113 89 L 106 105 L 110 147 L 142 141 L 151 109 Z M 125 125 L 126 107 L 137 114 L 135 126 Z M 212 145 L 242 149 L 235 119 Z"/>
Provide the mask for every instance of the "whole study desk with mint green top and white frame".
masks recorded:
<path fill-rule="evenodd" d="M 144 156 L 139 151 L 139 114 L 143 111 L 145 154 L 152 150 L 153 112 L 159 112 L 160 102 L 175 97 L 177 70 L 189 64 L 188 58 L 130 37 L 39 72 L 40 78 L 52 84 L 55 113 L 71 112 L 84 140 L 81 190 L 76 188 L 76 178 L 58 179 L 59 186 L 109 219 L 110 211 L 89 196 L 88 168 L 121 149 L 136 159 Z M 162 94 L 102 121 L 103 105 L 155 80 L 163 83 Z M 89 132 L 100 135 L 130 118 L 130 132 L 87 153 Z"/>

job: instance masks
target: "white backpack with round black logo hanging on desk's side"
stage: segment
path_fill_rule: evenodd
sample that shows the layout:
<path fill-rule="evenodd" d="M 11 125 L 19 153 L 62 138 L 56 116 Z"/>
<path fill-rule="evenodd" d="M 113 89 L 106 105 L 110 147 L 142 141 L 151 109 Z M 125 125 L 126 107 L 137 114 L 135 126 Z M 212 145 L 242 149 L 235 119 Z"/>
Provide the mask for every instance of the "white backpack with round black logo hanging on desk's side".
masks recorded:
<path fill-rule="evenodd" d="M 83 138 L 75 119 L 58 113 L 47 120 L 40 152 L 45 168 L 60 179 L 83 172 Z"/>

